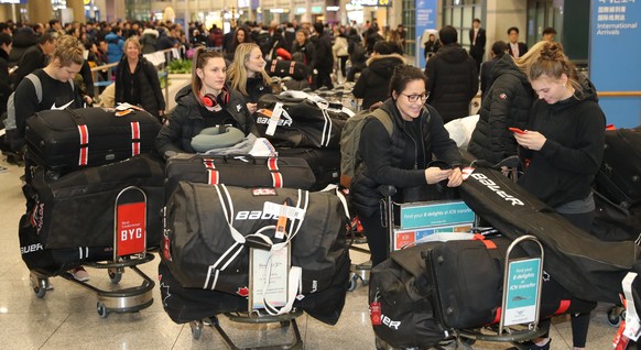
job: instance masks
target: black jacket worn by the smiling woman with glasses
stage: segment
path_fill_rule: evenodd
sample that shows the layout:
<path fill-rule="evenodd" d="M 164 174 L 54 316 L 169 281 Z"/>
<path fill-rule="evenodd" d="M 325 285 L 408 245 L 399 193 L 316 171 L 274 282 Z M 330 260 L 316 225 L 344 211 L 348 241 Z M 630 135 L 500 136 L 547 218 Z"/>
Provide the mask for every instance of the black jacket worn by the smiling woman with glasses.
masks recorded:
<path fill-rule="evenodd" d="M 379 210 L 382 195 L 378 187 L 382 184 L 396 188 L 426 185 L 425 167 L 432 161 L 432 154 L 453 166 L 460 165 L 460 153 L 456 143 L 449 139 L 443 125 L 443 119 L 431 106 L 421 114 L 422 143 L 406 132 L 394 100 L 385 100 L 380 107 L 394 123 L 392 135 L 376 118 L 367 120 L 361 131 L 359 154 L 362 163 L 357 167 L 351 183 L 351 203 L 360 215 L 371 216 Z M 409 160 L 406 154 L 417 154 L 423 150 L 423 158 Z"/>

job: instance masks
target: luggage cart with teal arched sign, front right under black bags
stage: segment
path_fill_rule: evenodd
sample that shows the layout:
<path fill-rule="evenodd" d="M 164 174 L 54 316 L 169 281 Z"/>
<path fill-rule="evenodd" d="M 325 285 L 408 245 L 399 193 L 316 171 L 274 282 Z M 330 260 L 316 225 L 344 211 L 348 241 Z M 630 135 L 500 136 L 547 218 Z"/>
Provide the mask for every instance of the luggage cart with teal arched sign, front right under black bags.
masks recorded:
<path fill-rule="evenodd" d="M 388 228 L 388 247 L 389 252 L 394 250 L 394 206 L 396 205 L 392 197 L 396 193 L 396 188 L 390 185 L 382 185 L 379 188 L 379 192 L 383 195 L 383 199 L 381 199 L 381 223 L 383 227 Z M 475 218 L 475 226 L 478 225 L 479 218 Z M 525 259 L 511 259 L 511 253 L 514 247 L 522 244 L 524 242 L 533 242 L 537 245 L 541 254 L 537 258 L 528 258 L 528 259 L 535 259 L 537 260 L 537 274 L 536 274 L 536 305 L 534 307 L 534 319 L 528 321 L 525 324 L 512 324 L 506 320 L 506 307 L 508 306 L 508 297 L 509 297 L 509 273 L 510 266 L 512 262 L 524 261 Z M 519 239 L 514 240 L 508 251 L 506 253 L 506 266 L 503 272 L 503 295 L 502 295 L 502 303 L 501 303 L 501 315 L 499 325 L 490 325 L 487 327 L 478 328 L 478 329 L 449 329 L 453 338 L 455 339 L 457 347 L 461 348 L 471 348 L 477 340 L 480 341 L 488 341 L 488 342 L 508 342 L 514 346 L 517 349 L 526 350 L 526 347 L 523 347 L 521 343 L 528 340 L 540 338 L 544 335 L 547 329 L 539 327 L 540 321 L 540 304 L 539 300 L 541 299 L 541 288 L 542 288 L 542 273 L 543 273 L 543 262 L 544 262 L 544 251 L 543 245 L 534 236 L 523 236 Z M 377 337 L 376 339 L 376 347 L 377 350 L 387 350 L 388 344 Z"/>

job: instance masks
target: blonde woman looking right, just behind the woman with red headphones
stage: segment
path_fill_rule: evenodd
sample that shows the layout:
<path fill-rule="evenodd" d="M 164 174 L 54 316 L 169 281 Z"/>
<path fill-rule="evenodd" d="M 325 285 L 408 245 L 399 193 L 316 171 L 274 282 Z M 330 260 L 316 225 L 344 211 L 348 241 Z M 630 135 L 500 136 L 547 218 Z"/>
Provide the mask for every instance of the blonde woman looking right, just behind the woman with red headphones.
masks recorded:
<path fill-rule="evenodd" d="M 229 86 L 240 92 L 247 100 L 247 109 L 253 114 L 258 100 L 271 94 L 271 78 L 264 72 L 265 62 L 257 44 L 240 44 L 236 47 L 233 62 L 227 74 Z"/>

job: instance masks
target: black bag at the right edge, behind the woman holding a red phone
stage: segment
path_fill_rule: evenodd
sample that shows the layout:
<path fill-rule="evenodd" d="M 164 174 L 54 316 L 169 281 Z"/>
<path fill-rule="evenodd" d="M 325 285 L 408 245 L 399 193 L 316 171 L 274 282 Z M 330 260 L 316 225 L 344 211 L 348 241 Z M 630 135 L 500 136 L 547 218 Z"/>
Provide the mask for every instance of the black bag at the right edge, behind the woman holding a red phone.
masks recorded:
<path fill-rule="evenodd" d="M 641 203 L 641 127 L 606 131 L 595 187 L 617 205 Z"/>

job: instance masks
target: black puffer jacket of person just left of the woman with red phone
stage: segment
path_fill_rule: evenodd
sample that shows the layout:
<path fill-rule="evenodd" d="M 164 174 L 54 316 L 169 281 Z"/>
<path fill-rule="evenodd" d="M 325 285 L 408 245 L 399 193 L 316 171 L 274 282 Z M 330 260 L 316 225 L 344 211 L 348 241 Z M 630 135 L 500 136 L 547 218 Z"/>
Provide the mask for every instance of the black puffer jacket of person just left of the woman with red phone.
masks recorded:
<path fill-rule="evenodd" d="M 517 141 L 508 128 L 525 129 L 534 91 L 510 55 L 497 61 L 495 83 L 482 100 L 480 118 L 467 150 L 493 164 L 517 154 Z"/>

